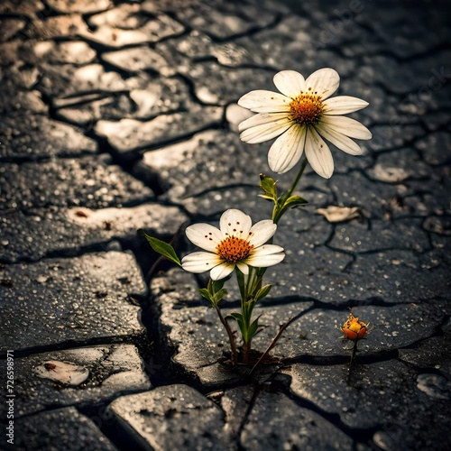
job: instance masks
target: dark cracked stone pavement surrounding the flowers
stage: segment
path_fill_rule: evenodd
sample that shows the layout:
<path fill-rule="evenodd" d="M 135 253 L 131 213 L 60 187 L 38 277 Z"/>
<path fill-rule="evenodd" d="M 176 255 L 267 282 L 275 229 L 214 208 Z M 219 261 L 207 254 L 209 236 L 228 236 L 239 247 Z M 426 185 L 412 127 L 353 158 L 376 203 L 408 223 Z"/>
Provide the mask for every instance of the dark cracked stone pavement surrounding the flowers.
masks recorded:
<path fill-rule="evenodd" d="M 0 447 L 450 449 L 449 17 L 426 0 L 1 2 Z M 206 278 L 137 230 L 183 254 L 190 222 L 270 216 L 269 144 L 239 140 L 237 99 L 323 67 L 370 102 L 373 140 L 333 152 L 329 180 L 307 170 L 254 347 L 295 321 L 278 364 L 231 371 Z M 349 307 L 375 325 L 351 370 Z"/>

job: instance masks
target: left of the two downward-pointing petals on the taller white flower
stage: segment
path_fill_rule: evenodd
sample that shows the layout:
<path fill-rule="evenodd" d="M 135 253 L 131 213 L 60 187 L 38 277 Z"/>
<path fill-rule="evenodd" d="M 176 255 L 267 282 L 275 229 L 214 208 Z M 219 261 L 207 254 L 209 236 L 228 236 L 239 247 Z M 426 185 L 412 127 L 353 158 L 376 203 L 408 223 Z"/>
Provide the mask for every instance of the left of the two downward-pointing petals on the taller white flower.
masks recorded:
<path fill-rule="evenodd" d="M 282 174 L 299 161 L 304 151 L 307 127 L 293 125 L 272 143 L 268 152 L 268 164 L 274 172 Z"/>

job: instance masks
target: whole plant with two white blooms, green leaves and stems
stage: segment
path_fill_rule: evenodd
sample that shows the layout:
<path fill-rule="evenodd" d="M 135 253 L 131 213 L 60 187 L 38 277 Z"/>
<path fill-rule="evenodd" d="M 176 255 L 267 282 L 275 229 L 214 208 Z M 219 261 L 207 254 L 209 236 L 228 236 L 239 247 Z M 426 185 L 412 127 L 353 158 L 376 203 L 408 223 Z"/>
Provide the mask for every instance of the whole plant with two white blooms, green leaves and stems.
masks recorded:
<path fill-rule="evenodd" d="M 290 188 L 281 194 L 276 180 L 260 175 L 261 197 L 273 203 L 272 218 L 253 225 L 251 217 L 243 211 L 227 209 L 220 217 L 219 228 L 208 224 L 189 226 L 186 229 L 189 241 L 202 251 L 189 253 L 181 261 L 170 244 L 144 234 L 154 251 L 185 271 L 209 272 L 207 288 L 199 292 L 216 309 L 226 328 L 232 364 L 252 363 L 253 336 L 262 329 L 260 317 L 253 317 L 253 308 L 272 288 L 271 284 L 263 283 L 266 268 L 280 263 L 285 257 L 283 248 L 272 244 L 281 217 L 290 208 L 307 203 L 294 192 L 307 163 L 319 176 L 328 179 L 334 172 L 334 161 L 323 138 L 344 152 L 359 155 L 362 150 L 351 138 L 367 140 L 372 137 L 363 124 L 343 116 L 364 108 L 367 102 L 356 97 L 331 97 L 340 81 L 334 69 L 319 69 L 307 79 L 294 70 L 282 70 L 273 81 L 280 93 L 254 90 L 238 101 L 238 105 L 256 113 L 239 125 L 242 141 L 263 143 L 277 138 L 268 153 L 272 171 L 288 172 L 305 153 Z M 219 303 L 226 297 L 225 282 L 233 273 L 240 291 L 241 309 L 225 318 Z M 240 348 L 236 345 L 235 331 L 229 319 L 236 321 L 241 332 Z M 290 320 L 281 327 L 268 349 L 275 345 Z M 353 327 L 354 323 L 342 330 L 345 333 L 345 330 L 354 330 Z"/>

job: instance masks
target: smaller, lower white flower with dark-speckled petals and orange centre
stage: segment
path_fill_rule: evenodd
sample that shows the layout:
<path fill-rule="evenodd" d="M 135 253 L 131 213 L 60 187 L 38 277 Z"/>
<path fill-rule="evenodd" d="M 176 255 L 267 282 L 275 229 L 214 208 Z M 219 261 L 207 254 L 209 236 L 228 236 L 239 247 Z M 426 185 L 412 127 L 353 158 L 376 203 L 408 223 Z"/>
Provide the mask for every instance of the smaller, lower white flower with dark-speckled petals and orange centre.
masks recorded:
<path fill-rule="evenodd" d="M 181 260 L 188 272 L 210 271 L 213 281 L 224 279 L 238 267 L 244 274 L 249 266 L 266 268 L 280 263 L 285 254 L 275 244 L 264 244 L 275 234 L 277 226 L 271 219 L 252 226 L 250 216 L 241 210 L 226 210 L 219 221 L 219 229 L 208 224 L 189 226 L 189 241 L 207 252 L 189 253 Z"/>

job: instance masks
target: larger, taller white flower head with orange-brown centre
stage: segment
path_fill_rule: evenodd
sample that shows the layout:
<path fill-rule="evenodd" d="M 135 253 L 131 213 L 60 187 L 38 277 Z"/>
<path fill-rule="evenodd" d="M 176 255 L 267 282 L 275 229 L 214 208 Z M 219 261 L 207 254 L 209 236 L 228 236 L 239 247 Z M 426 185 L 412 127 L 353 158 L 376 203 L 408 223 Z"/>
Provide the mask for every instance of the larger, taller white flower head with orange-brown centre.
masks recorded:
<path fill-rule="evenodd" d="M 279 136 L 268 153 L 271 170 L 287 172 L 305 149 L 313 170 L 330 178 L 334 160 L 323 138 L 346 153 L 362 154 L 362 149 L 350 138 L 369 140 L 372 133 L 354 119 L 341 115 L 360 110 L 368 102 L 348 96 L 328 98 L 340 84 L 336 70 L 319 69 L 307 79 L 294 70 L 282 70 L 273 81 L 281 94 L 256 90 L 238 101 L 238 105 L 258 113 L 239 125 L 240 138 L 245 143 L 263 143 Z"/>

